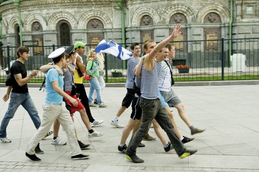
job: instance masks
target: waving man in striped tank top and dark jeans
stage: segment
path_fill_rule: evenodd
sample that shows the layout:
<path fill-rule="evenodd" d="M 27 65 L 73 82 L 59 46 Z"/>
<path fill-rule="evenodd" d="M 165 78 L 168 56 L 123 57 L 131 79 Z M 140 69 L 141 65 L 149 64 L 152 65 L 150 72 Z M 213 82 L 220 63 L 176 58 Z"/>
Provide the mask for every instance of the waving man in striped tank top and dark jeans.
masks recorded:
<path fill-rule="evenodd" d="M 126 157 L 134 163 L 143 163 L 144 160 L 138 158 L 136 155 L 136 148 L 148 133 L 150 124 L 155 118 L 162 129 L 166 132 L 169 140 L 180 158 L 185 158 L 194 154 L 197 150 L 188 150 L 179 140 L 174 132 L 171 120 L 162 107 L 161 101 L 158 98 L 159 93 L 159 77 L 161 73 L 161 62 L 168 56 L 163 52 L 163 47 L 171 40 L 181 34 L 181 25 L 174 27 L 172 34 L 160 42 L 157 46 L 155 42 L 151 42 L 149 46 L 154 47 L 153 50 L 145 55 L 144 63 L 142 65 L 141 74 L 136 71 L 136 76 L 141 77 L 141 98 L 139 105 L 142 109 L 142 121 L 138 131 L 130 139 L 126 150 Z M 156 59 L 155 59 L 156 58 Z"/>

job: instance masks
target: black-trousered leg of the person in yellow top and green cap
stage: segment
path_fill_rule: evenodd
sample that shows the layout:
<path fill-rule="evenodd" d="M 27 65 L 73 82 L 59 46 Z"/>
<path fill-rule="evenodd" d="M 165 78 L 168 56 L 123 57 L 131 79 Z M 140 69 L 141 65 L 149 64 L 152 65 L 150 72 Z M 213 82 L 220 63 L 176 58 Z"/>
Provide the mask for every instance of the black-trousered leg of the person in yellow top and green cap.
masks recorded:
<path fill-rule="evenodd" d="M 89 118 L 89 121 L 94 122 L 95 119 L 91 114 L 91 110 L 88 104 L 89 100 L 88 100 L 84 85 L 83 84 L 75 84 L 75 85 L 76 85 L 76 92 L 80 94 L 79 100 L 81 101 L 81 103 L 84 105 L 86 109 L 86 114 Z"/>

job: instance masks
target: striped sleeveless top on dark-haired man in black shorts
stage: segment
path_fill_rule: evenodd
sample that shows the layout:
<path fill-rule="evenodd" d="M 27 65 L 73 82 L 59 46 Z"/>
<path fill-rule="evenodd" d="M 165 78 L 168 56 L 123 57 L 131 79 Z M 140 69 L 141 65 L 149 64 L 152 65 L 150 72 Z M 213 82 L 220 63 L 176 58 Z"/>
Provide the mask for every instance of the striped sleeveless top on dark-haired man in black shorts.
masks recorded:
<path fill-rule="evenodd" d="M 127 63 L 127 80 L 125 87 L 133 88 L 134 76 L 135 76 L 135 67 L 139 63 L 140 57 L 134 58 L 130 57 Z"/>

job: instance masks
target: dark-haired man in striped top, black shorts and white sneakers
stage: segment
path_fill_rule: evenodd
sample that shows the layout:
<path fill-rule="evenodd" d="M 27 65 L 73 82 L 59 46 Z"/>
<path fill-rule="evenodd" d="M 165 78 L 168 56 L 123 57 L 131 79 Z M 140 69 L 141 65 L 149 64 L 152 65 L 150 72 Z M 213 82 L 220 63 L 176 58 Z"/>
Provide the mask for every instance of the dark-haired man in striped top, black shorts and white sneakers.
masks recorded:
<path fill-rule="evenodd" d="M 122 106 L 118 110 L 117 114 L 114 116 L 114 118 L 111 120 L 111 125 L 118 127 L 118 128 L 123 128 L 124 126 L 119 123 L 118 118 L 123 114 L 123 112 L 129 108 L 135 92 L 132 90 L 133 88 L 133 82 L 134 82 L 134 77 L 135 77 L 135 67 L 139 63 L 139 55 L 140 55 L 140 45 L 138 43 L 132 43 L 130 45 L 130 49 L 132 52 L 132 57 L 129 58 L 128 63 L 127 63 L 127 81 L 125 84 L 125 87 L 127 88 L 127 94 L 124 97 L 122 101 Z"/>

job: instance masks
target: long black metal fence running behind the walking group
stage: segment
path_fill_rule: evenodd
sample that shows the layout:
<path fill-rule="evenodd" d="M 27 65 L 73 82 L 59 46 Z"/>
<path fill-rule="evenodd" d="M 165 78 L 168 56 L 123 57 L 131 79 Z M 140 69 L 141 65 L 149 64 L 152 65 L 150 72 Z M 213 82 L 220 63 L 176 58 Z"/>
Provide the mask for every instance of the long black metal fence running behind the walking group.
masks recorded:
<path fill-rule="evenodd" d="M 231 41 L 231 42 L 230 42 Z M 219 81 L 259 79 L 259 38 L 195 40 L 173 42 L 176 57 L 172 60 L 175 81 Z M 229 45 L 231 45 L 229 47 Z M 92 45 L 88 45 L 87 49 Z M 130 44 L 126 44 L 129 50 Z M 29 46 L 30 58 L 25 62 L 28 74 L 50 62 L 48 55 L 60 46 Z M 141 43 L 142 47 L 142 43 Z M 16 60 L 18 47 L 0 47 L 0 82 L 4 82 L 11 64 Z M 66 47 L 65 47 L 66 48 Z M 229 52 L 229 48 L 231 52 Z M 88 51 L 86 51 L 87 53 Z M 142 51 L 143 52 L 143 51 Z M 229 56 L 229 54 L 231 56 Z M 83 57 L 85 63 L 86 55 Z M 190 65 L 188 73 L 181 73 L 177 65 Z M 105 54 L 105 81 L 125 82 L 127 61 Z M 111 70 L 122 71 L 121 77 L 112 76 Z M 44 74 L 39 72 L 30 82 L 40 83 Z M 84 81 L 86 82 L 86 81 Z"/>

